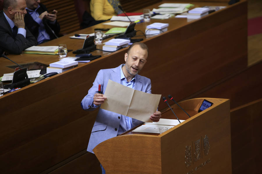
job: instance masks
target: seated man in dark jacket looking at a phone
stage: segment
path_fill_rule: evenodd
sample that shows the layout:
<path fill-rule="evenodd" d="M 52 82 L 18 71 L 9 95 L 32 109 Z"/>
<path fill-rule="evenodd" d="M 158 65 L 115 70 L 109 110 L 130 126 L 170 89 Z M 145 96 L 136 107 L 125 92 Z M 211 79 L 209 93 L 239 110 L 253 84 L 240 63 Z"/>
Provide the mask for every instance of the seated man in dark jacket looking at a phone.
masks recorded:
<path fill-rule="evenodd" d="M 59 36 L 60 25 L 56 21 L 56 10 L 48 13 L 40 0 L 26 0 L 26 11 L 24 17 L 26 27 L 36 37 L 38 44 Z"/>

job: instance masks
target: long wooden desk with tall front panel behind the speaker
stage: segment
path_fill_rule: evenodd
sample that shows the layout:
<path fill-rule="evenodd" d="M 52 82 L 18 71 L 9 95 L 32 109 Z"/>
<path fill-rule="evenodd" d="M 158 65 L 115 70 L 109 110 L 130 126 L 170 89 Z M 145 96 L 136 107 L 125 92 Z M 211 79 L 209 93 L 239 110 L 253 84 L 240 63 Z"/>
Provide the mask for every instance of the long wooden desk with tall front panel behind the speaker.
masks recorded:
<path fill-rule="evenodd" d="M 194 4 L 195 7 L 227 5 Z M 143 41 L 149 48 L 149 57 L 140 75 L 151 79 L 152 93 L 166 97 L 171 94 L 179 101 L 247 66 L 247 1 L 195 21 L 187 22 L 181 18 L 151 20 L 137 24 L 135 29 L 144 32 L 153 22 L 169 23 L 169 27 L 167 32 Z M 98 27 L 109 26 L 98 24 L 77 33 L 92 33 Z M 68 49 L 76 50 L 82 47 L 83 40 L 68 38 L 74 34 L 41 45 L 64 43 Z M 140 32 L 137 34 L 141 35 Z M 92 52 L 93 55 L 102 54 L 102 57 L 0 97 L 2 173 L 39 173 L 56 164 L 62 166 L 66 164 L 64 160 L 84 151 L 98 111 L 85 112 L 80 102 L 98 70 L 124 63 L 126 50 L 110 54 Z M 69 52 L 68 56 L 74 54 Z M 56 55 L 8 57 L 18 64 L 58 61 Z M 0 74 L 13 72 L 6 68 L 12 65 L 10 61 L 1 58 L 0 62 Z M 166 105 L 160 101 L 159 109 L 163 108 Z"/>

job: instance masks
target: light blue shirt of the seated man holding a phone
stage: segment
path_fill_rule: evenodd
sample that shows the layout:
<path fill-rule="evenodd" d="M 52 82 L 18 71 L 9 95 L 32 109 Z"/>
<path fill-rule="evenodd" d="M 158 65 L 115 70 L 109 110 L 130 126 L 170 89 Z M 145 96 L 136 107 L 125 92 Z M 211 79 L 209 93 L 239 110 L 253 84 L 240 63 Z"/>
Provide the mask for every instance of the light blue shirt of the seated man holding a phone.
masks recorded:
<path fill-rule="evenodd" d="M 39 34 L 38 34 L 38 37 L 37 37 L 37 43 L 41 44 L 44 40 L 50 40 L 50 36 L 45 30 L 45 25 L 43 23 L 43 20 L 41 20 L 39 18 L 39 14 L 36 11 L 39 7 L 40 7 L 40 5 L 38 5 L 38 7 L 35 10 L 30 10 L 28 8 L 26 8 L 26 10 L 29 11 L 29 14 L 34 19 L 34 21 L 36 21 L 39 24 L 39 30 L 38 30 Z M 55 21 L 53 21 L 53 22 L 55 23 Z"/>

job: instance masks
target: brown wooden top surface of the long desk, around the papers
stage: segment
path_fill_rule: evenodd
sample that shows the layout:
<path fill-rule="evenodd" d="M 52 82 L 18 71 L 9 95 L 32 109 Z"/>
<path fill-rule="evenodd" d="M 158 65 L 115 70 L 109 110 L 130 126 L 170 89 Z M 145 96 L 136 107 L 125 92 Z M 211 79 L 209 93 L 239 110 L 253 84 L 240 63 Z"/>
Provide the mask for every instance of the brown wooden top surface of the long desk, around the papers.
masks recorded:
<path fill-rule="evenodd" d="M 159 2 L 159 3 L 156 3 L 152 6 L 149 6 L 148 8 L 149 9 L 153 9 L 154 7 L 164 3 L 164 2 L 169 2 L 170 1 L 163 1 L 163 2 Z M 207 6 L 207 5 L 216 5 L 216 6 L 228 6 L 226 3 L 203 3 L 203 2 L 194 2 L 194 7 L 202 7 L 202 6 Z M 139 10 L 138 12 L 141 12 L 141 10 Z M 210 14 L 212 15 L 212 14 Z M 157 20 L 157 19 L 151 19 L 150 22 L 143 22 L 143 23 L 137 23 L 136 26 L 135 26 L 135 29 L 138 31 L 138 30 L 141 30 L 142 32 L 145 32 L 145 28 L 147 25 L 151 24 L 151 23 L 154 23 L 154 22 L 162 22 L 162 23 L 169 23 L 169 27 L 168 27 L 168 32 L 169 31 L 172 31 L 172 30 L 176 30 L 178 28 L 181 28 L 185 25 L 187 25 L 188 23 L 192 23 L 192 22 L 196 22 L 198 20 L 190 20 L 188 21 L 186 18 L 170 18 L 170 19 L 165 19 L 165 20 Z M 109 22 L 109 21 L 107 21 Z M 67 45 L 67 48 L 69 50 L 77 50 L 79 48 L 82 48 L 83 46 L 83 43 L 84 43 L 84 39 L 70 39 L 69 36 L 73 36 L 74 34 L 90 34 L 90 33 L 93 33 L 94 32 L 94 28 L 113 28 L 113 27 L 116 27 L 116 26 L 109 26 L 109 25 L 104 25 L 103 23 L 100 23 L 98 25 L 95 25 L 95 26 L 92 26 L 92 27 L 89 27 L 89 28 L 85 28 L 83 30 L 79 30 L 78 32 L 75 32 L 75 33 L 70 33 L 68 35 L 65 35 L 63 37 L 60 37 L 58 39 L 54 39 L 52 41 L 49 41 L 49 42 L 46 42 L 44 44 L 40 44 L 39 46 L 56 46 L 58 44 L 66 44 Z M 139 36 L 140 35 L 140 36 Z M 161 35 L 156 35 L 154 37 L 160 37 Z M 112 39 L 113 37 L 109 38 L 109 39 Z M 133 37 L 133 38 L 143 38 L 144 40 L 151 40 L 153 37 L 150 37 L 150 38 L 145 38 L 144 36 L 142 36 L 142 33 L 140 31 L 137 32 L 137 37 Z M 103 41 L 103 43 L 109 39 L 106 39 Z M 102 45 L 97 45 L 97 48 L 99 49 L 102 49 Z M 127 48 L 125 48 L 124 50 L 126 50 Z M 119 51 L 116 51 L 116 52 L 119 52 Z M 149 50 L 149 58 L 151 57 L 151 50 Z M 108 53 L 108 52 L 102 52 L 102 51 L 94 51 L 92 52 L 93 55 L 102 55 L 102 57 L 100 59 L 103 59 L 105 56 L 112 56 L 114 55 L 114 53 Z M 74 57 L 75 54 L 71 52 L 68 53 L 68 56 L 72 56 Z M 8 57 L 10 59 L 12 59 L 13 61 L 17 62 L 18 64 L 25 64 L 25 63 L 31 63 L 31 62 L 40 62 L 40 63 L 43 63 L 43 64 L 46 64 L 46 65 L 49 65 L 50 63 L 53 63 L 55 61 L 59 61 L 59 57 L 58 55 L 37 55 L 37 54 L 24 54 L 22 53 L 21 55 L 8 55 Z M 13 64 L 11 61 L 7 60 L 7 59 L 4 59 L 4 58 L 1 58 L 0 60 L 1 62 L 1 67 L 0 67 L 0 75 L 3 74 L 3 73 L 12 73 L 13 72 L 13 69 L 12 68 L 8 68 L 6 66 L 10 66 L 10 65 L 15 65 Z M 89 64 L 92 64 L 92 62 L 90 63 L 79 63 L 79 66 L 86 66 L 86 65 L 89 65 Z M 122 63 L 122 62 L 120 62 Z"/>

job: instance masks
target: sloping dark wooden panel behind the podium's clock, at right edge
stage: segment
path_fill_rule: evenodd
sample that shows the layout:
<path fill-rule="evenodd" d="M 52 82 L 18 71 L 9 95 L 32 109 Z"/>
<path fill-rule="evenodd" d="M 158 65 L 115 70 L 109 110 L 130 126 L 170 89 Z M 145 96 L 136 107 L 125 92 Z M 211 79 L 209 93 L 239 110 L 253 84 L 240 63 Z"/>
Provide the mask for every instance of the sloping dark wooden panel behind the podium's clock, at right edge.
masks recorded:
<path fill-rule="evenodd" d="M 230 99 L 230 107 L 236 108 L 262 98 L 262 61 L 247 67 L 233 76 L 222 79 L 197 94 L 195 97 L 221 97 Z"/>

